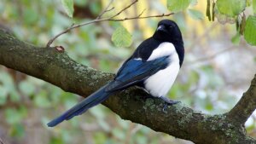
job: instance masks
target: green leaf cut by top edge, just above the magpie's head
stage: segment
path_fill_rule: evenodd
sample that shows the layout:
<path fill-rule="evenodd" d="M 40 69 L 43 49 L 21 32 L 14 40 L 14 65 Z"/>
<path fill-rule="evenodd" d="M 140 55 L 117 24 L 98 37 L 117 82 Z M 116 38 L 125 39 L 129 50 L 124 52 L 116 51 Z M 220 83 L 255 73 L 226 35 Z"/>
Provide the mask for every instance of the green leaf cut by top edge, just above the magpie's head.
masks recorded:
<path fill-rule="evenodd" d="M 177 13 L 189 7 L 190 0 L 167 0 L 167 9 Z"/>

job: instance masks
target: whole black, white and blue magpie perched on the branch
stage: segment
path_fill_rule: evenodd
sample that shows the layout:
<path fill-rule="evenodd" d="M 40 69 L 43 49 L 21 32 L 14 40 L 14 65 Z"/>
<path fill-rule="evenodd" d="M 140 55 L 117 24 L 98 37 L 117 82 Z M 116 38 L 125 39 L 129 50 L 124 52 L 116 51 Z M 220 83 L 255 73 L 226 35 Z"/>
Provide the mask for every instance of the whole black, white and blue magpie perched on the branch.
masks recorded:
<path fill-rule="evenodd" d="M 79 116 L 110 95 L 131 86 L 146 90 L 149 95 L 162 99 L 167 105 L 176 104 L 179 101 L 172 101 L 166 95 L 177 78 L 183 59 L 183 37 L 179 27 L 173 20 L 160 20 L 153 36 L 139 44 L 111 82 L 47 125 L 54 127 L 64 120 Z"/>

